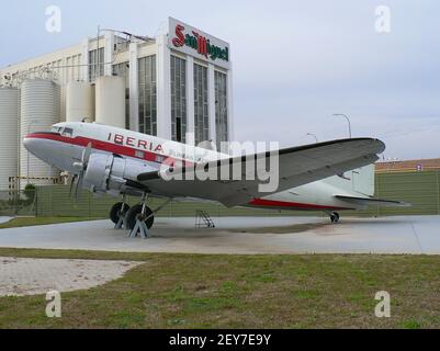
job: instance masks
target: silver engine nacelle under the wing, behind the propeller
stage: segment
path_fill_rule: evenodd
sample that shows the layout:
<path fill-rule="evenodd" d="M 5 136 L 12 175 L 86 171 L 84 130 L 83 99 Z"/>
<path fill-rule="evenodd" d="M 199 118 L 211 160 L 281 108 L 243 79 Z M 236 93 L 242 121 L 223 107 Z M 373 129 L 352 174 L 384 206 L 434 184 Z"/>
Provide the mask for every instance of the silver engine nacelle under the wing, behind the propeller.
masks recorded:
<path fill-rule="evenodd" d="M 84 188 L 92 192 L 114 193 L 124 190 L 128 180 L 136 180 L 146 165 L 114 155 L 92 154 L 84 173 Z"/>

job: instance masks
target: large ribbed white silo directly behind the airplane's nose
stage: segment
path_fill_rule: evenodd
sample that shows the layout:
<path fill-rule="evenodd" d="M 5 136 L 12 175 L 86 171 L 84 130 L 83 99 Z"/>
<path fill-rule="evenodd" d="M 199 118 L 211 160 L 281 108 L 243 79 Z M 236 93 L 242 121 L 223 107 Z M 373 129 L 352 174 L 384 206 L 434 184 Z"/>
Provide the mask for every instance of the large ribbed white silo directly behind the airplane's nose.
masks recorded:
<path fill-rule="evenodd" d="M 46 185 L 59 171 L 41 161 L 24 148 L 23 137 L 30 133 L 48 131 L 60 118 L 60 87 L 52 80 L 23 81 L 20 94 L 20 176 L 23 189 L 27 183 Z"/>

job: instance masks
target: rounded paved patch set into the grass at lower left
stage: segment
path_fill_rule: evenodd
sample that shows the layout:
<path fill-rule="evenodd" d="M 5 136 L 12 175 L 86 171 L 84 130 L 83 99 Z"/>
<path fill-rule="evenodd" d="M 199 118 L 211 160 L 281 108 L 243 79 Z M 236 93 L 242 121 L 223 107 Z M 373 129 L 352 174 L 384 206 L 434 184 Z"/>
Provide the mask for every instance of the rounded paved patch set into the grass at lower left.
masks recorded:
<path fill-rule="evenodd" d="M 139 262 L 0 257 L 0 296 L 88 290 L 121 278 Z"/>

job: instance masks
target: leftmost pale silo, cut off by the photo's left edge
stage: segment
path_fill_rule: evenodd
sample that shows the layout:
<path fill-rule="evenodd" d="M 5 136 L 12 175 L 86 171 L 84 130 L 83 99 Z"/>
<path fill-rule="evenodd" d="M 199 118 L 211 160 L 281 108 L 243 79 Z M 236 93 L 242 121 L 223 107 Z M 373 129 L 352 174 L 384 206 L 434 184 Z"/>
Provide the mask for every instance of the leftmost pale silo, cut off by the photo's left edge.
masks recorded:
<path fill-rule="evenodd" d="M 18 176 L 19 97 L 14 88 L 0 87 L 0 191 L 9 189 L 9 178 Z"/>

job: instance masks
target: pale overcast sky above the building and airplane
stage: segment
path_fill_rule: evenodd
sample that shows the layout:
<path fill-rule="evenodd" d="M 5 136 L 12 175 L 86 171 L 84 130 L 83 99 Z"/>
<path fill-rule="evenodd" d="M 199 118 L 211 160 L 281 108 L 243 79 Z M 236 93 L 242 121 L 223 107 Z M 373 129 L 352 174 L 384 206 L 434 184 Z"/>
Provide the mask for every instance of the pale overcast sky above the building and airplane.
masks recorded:
<path fill-rule="evenodd" d="M 58 5 L 61 33 L 46 32 Z M 377 5 L 391 32 L 377 33 Z M 235 135 L 283 146 L 373 136 L 385 158 L 440 157 L 440 1 L 19 0 L 3 3 L 0 66 L 79 43 L 98 24 L 154 36 L 169 15 L 232 45 Z"/>

